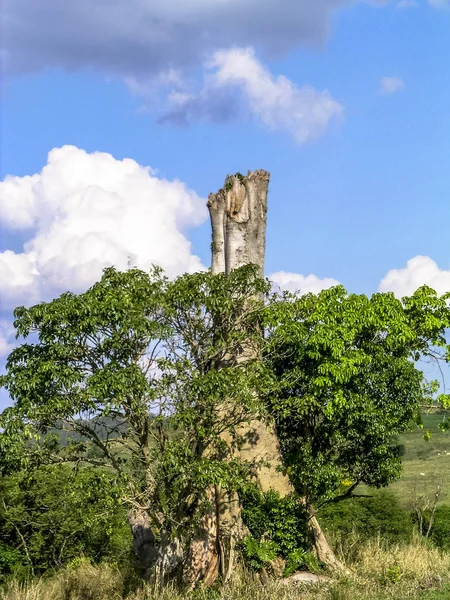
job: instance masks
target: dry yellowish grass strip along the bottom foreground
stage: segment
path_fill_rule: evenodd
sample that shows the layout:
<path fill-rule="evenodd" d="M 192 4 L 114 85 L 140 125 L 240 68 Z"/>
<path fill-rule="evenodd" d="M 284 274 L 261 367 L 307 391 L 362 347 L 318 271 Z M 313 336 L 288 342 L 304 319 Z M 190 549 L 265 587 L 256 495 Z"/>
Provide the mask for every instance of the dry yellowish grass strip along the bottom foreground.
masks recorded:
<path fill-rule="evenodd" d="M 356 547 L 356 539 L 354 540 Z M 195 600 L 450 600 L 450 554 L 443 554 L 419 538 L 411 544 L 386 549 L 380 541 L 353 547 L 347 564 L 351 577 L 315 586 L 273 581 L 263 586 L 244 573 L 233 584 L 216 590 L 197 590 Z M 121 573 L 111 566 L 81 563 L 49 579 L 27 585 L 17 582 L 0 592 L 0 600 L 184 600 L 174 588 L 157 591 L 139 585 L 125 593 Z"/>

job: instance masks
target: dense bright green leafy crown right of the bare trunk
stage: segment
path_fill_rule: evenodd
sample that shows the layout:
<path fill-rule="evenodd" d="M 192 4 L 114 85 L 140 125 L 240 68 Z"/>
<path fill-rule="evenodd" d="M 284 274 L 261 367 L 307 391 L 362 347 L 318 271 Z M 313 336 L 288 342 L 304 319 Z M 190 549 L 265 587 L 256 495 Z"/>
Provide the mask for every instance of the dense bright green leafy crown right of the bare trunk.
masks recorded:
<path fill-rule="evenodd" d="M 419 417 L 426 392 L 419 356 L 447 354 L 445 297 L 423 287 L 393 294 L 285 294 L 267 311 L 276 392 L 268 404 L 290 479 L 311 504 L 359 483 L 397 479 L 396 436 Z"/>

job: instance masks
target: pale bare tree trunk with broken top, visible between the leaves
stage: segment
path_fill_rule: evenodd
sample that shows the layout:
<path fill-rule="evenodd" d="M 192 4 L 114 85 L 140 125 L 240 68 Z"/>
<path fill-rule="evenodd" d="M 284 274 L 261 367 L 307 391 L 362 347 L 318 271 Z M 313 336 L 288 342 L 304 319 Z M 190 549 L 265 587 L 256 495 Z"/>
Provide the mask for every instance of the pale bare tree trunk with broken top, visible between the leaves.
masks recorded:
<path fill-rule="evenodd" d="M 224 187 L 209 195 L 213 274 L 228 275 L 233 269 L 253 264 L 259 267 L 260 276 L 264 275 L 268 185 L 267 171 L 249 171 L 247 177 L 228 176 Z M 239 356 L 227 357 L 227 362 L 231 358 L 236 364 L 242 364 L 255 357 L 256 350 L 248 345 Z M 243 460 L 255 465 L 266 463 L 266 466 L 257 466 L 255 471 L 262 491 L 275 489 L 282 496 L 289 493 L 289 479 L 279 469 L 281 455 L 273 426 L 255 419 L 239 427 L 237 435 L 247 440 L 239 450 Z M 231 458 L 232 452 L 237 450 L 231 449 L 229 438 L 224 435 Z M 214 573 L 220 573 L 227 580 L 233 571 L 236 543 L 248 533 L 242 522 L 237 494 L 216 487 L 213 495 L 216 519 L 205 521 L 206 527 L 199 532 L 190 549 L 189 580 L 192 583 L 205 574 L 212 580 Z M 199 566 L 193 569 L 193 564 Z"/>

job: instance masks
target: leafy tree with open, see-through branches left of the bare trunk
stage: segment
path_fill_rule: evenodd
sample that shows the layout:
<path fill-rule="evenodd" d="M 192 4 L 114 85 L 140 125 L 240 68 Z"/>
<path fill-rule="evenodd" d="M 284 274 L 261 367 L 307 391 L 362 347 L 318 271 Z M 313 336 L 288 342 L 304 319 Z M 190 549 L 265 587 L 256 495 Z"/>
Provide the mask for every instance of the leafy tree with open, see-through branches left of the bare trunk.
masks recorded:
<path fill-rule="evenodd" d="M 205 490 L 232 493 L 258 466 L 230 449 L 263 411 L 255 390 L 268 376 L 261 361 L 230 357 L 261 344 L 266 292 L 251 267 L 174 282 L 110 268 L 83 294 L 16 309 L 18 333 L 37 341 L 13 350 L 1 380 L 14 400 L 1 417 L 3 463 L 114 470 L 143 568 L 214 578 L 219 548 L 216 564 L 198 565 L 196 532 L 215 520 Z"/>

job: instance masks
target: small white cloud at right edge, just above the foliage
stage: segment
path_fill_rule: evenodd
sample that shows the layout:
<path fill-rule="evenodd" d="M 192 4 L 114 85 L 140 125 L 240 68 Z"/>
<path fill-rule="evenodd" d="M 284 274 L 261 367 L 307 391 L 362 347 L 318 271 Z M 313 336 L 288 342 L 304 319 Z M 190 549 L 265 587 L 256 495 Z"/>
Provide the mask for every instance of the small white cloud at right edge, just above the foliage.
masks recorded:
<path fill-rule="evenodd" d="M 391 269 L 379 285 L 380 292 L 394 292 L 401 298 L 428 285 L 438 294 L 450 291 L 450 270 L 440 269 L 429 256 L 415 256 L 401 269 Z"/>

